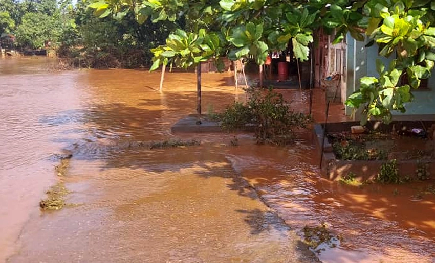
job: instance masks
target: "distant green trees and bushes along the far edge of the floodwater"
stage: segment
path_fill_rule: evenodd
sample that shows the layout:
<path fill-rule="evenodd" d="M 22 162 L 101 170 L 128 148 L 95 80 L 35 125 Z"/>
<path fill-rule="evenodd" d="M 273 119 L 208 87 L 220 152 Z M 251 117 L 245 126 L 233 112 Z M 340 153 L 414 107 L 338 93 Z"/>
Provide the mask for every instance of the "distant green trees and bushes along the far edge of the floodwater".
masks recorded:
<path fill-rule="evenodd" d="M 163 44 L 182 21 L 145 21 L 133 12 L 123 19 L 98 19 L 91 1 L 0 0 L 0 47 L 6 50 L 49 49 L 76 67 L 150 66 L 154 47 Z M 184 22 L 183 22 L 184 23 Z"/>

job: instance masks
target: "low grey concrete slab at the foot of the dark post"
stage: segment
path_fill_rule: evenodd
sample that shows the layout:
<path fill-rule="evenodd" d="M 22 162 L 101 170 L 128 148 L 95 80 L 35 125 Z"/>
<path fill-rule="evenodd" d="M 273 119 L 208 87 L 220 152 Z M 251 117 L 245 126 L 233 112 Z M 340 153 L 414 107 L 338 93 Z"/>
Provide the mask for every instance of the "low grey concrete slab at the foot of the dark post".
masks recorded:
<path fill-rule="evenodd" d="M 199 122 L 200 121 L 200 122 Z M 171 127 L 172 133 L 222 132 L 218 122 L 210 121 L 205 115 L 190 114 Z"/>

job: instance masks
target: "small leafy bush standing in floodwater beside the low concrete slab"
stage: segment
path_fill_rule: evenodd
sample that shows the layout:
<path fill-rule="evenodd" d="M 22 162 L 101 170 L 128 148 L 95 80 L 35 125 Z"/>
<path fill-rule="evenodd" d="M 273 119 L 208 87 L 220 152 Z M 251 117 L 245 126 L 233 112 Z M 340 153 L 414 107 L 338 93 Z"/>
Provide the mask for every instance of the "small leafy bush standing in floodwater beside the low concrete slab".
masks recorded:
<path fill-rule="evenodd" d="M 248 125 L 255 130 L 255 138 L 259 144 L 286 144 L 293 138 L 296 128 L 306 128 L 309 116 L 295 113 L 282 94 L 272 89 L 249 88 L 246 104 L 235 102 L 219 114 L 221 126 L 226 131 L 235 131 Z"/>

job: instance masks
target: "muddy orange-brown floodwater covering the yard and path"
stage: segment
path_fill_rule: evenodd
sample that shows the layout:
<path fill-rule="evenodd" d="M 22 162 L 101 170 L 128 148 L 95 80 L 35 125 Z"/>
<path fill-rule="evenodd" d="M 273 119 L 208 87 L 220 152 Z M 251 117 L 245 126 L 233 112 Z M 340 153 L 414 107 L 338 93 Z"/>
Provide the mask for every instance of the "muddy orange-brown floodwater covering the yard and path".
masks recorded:
<path fill-rule="evenodd" d="M 183 134 L 200 146 L 148 149 L 195 109 L 195 75 L 46 70 L 50 59 L 0 60 L 0 262 L 315 262 L 300 235 L 326 223 L 343 236 L 323 262 L 430 262 L 430 183 L 352 187 L 321 178 L 310 132 L 294 145 L 250 135 Z M 244 101 L 231 74 L 203 74 L 203 108 Z M 308 112 L 309 94 L 282 90 Z M 314 117 L 324 118 L 315 92 Z M 333 105 L 330 119 L 345 120 Z M 132 145 L 129 147 L 129 145 Z M 72 153 L 70 205 L 39 211 Z M 251 186 L 254 186 L 252 188 Z"/>

